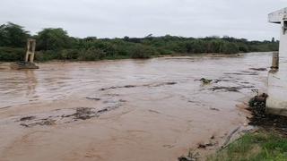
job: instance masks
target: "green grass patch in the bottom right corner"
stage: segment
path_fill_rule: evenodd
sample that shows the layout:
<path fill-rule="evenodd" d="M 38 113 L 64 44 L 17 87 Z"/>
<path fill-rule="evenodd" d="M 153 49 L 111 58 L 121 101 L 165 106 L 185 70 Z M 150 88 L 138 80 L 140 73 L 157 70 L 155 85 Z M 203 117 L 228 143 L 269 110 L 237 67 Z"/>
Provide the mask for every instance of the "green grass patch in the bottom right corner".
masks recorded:
<path fill-rule="evenodd" d="M 287 138 L 278 134 L 260 131 L 248 133 L 227 148 L 218 152 L 209 161 L 286 161 Z"/>

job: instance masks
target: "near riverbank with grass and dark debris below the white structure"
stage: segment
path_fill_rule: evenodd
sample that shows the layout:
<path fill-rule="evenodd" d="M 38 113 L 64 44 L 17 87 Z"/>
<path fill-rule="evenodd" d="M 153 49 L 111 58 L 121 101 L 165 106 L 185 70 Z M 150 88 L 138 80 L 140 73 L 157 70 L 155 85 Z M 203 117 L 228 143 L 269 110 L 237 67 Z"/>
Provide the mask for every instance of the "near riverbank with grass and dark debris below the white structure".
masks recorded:
<path fill-rule="evenodd" d="M 287 160 L 287 117 L 265 114 L 266 97 L 262 94 L 249 101 L 249 124 L 257 129 L 248 131 L 208 160 Z"/>

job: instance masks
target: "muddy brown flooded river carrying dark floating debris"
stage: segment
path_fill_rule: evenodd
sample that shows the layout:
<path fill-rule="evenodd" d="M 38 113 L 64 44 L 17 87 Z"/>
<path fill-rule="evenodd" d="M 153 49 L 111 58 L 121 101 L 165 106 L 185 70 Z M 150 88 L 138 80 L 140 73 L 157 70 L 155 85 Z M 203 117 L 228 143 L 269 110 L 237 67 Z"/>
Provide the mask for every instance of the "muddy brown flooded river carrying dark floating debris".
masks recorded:
<path fill-rule="evenodd" d="M 242 106 L 265 91 L 271 60 L 195 55 L 35 71 L 2 63 L 0 160 L 175 161 L 207 143 L 200 152 L 210 154 L 248 123 Z"/>

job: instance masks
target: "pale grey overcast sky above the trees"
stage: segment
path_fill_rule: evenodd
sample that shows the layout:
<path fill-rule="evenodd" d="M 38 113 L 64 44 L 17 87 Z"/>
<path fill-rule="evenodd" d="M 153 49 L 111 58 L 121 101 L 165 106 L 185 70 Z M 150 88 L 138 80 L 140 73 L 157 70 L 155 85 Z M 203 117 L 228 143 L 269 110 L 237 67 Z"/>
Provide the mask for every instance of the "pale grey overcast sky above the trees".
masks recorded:
<path fill-rule="evenodd" d="M 32 34 L 63 28 L 84 38 L 232 36 L 279 38 L 267 14 L 287 0 L 1 0 L 0 23 L 20 24 Z"/>

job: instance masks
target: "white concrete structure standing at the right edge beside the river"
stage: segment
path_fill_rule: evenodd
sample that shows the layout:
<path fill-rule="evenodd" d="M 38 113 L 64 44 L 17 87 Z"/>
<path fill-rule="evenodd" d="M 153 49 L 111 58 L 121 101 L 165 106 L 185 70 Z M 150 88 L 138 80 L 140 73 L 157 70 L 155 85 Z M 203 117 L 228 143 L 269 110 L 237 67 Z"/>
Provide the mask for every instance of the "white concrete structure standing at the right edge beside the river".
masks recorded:
<path fill-rule="evenodd" d="M 272 70 L 268 76 L 266 112 L 287 116 L 287 8 L 269 14 L 269 22 L 281 25 L 278 54 L 274 54 Z"/>

